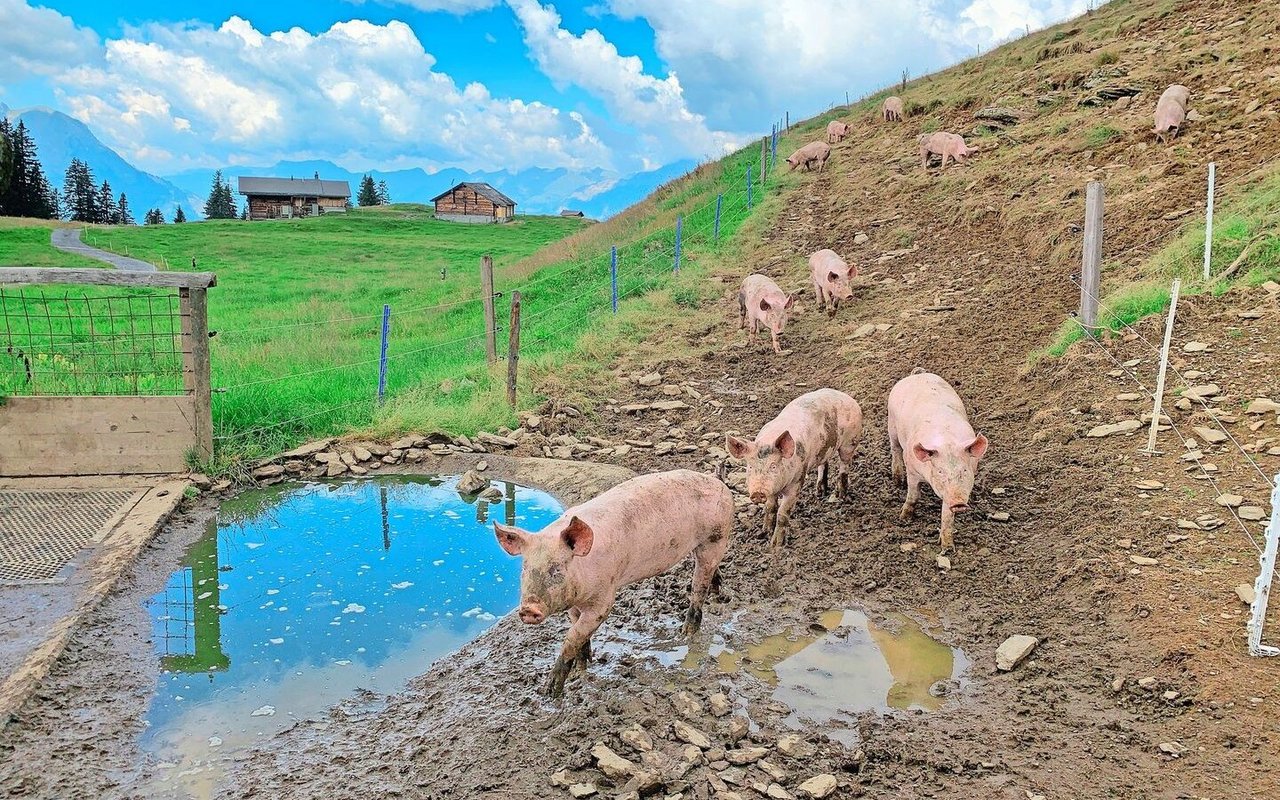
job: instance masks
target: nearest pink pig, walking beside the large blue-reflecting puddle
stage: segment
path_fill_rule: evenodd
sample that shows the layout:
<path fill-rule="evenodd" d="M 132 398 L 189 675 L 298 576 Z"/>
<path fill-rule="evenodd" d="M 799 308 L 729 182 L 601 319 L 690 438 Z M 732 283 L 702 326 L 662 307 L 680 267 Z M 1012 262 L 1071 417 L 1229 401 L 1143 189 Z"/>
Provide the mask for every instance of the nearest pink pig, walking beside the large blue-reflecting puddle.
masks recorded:
<path fill-rule="evenodd" d="M 694 582 L 684 634 L 701 627 L 703 602 L 733 532 L 733 495 L 713 475 L 691 470 L 626 480 L 564 511 L 538 532 L 494 522 L 498 544 L 522 556 L 520 607 L 526 625 L 568 611 L 572 623 L 552 667 L 547 692 L 564 692 L 570 668 L 591 662 L 591 635 L 618 590 L 666 572 L 694 554 Z"/>

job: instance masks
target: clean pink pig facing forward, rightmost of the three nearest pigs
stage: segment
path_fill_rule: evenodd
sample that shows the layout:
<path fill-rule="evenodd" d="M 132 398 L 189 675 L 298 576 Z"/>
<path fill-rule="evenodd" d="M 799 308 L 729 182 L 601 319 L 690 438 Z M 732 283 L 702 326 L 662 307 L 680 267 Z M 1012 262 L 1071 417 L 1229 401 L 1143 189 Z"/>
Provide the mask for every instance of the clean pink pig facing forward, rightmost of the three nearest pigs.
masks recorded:
<path fill-rule="evenodd" d="M 942 500 L 942 552 L 955 549 L 955 515 L 969 509 L 974 472 L 987 453 L 964 402 L 942 378 L 916 367 L 888 393 L 888 445 L 893 479 L 906 481 L 904 522 L 915 515 L 920 483 Z"/>

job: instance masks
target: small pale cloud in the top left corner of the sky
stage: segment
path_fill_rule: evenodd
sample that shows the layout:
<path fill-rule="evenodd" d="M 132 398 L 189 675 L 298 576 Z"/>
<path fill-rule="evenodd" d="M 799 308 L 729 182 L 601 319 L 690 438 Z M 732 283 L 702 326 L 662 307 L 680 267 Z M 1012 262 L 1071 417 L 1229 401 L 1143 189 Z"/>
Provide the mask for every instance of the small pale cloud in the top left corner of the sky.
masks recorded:
<path fill-rule="evenodd" d="M 97 35 L 70 17 L 24 0 L 0 0 L 0 83 L 59 73 L 93 60 Z"/>

